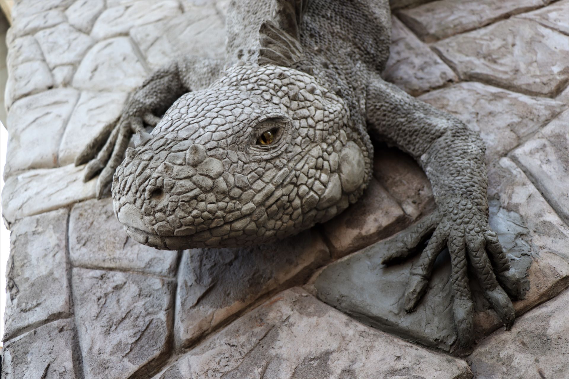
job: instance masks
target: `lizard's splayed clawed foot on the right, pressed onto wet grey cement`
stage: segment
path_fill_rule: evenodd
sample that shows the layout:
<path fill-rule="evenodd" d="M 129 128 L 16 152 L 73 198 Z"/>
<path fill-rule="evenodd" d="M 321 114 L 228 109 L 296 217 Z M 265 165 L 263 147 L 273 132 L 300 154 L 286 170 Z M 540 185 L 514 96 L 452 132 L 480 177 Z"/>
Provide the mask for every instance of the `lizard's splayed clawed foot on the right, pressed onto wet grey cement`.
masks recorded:
<path fill-rule="evenodd" d="M 451 255 L 453 286 L 453 314 L 460 344 L 473 343 L 474 306 L 468 283 L 467 266 L 475 274 L 493 309 L 496 310 L 506 329 L 514 323 L 514 307 L 508 294 L 522 297 L 527 282 L 515 277 L 510 270 L 500 242 L 488 226 L 483 214 L 467 201 L 454 202 L 450 210 L 442 215 L 435 212 L 409 230 L 403 232 L 396 247 L 382 260 L 392 264 L 410 256 L 424 245 L 420 259 L 410 272 L 409 284 L 405 290 L 404 307 L 411 312 L 417 307 L 427 289 L 436 257 L 448 247 Z M 463 210 L 455 211 L 456 209 Z M 506 291 L 508 293 L 506 293 Z"/>

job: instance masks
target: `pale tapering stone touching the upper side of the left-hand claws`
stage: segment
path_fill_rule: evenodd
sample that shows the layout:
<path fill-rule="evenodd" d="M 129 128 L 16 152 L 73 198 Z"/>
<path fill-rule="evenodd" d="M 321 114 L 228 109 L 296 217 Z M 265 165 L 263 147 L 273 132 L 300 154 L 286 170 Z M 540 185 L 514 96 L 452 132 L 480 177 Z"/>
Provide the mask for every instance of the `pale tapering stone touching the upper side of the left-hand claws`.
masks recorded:
<path fill-rule="evenodd" d="M 83 91 L 61 139 L 59 164 L 73 163 L 106 124 L 118 119 L 127 96 L 124 92 Z"/>

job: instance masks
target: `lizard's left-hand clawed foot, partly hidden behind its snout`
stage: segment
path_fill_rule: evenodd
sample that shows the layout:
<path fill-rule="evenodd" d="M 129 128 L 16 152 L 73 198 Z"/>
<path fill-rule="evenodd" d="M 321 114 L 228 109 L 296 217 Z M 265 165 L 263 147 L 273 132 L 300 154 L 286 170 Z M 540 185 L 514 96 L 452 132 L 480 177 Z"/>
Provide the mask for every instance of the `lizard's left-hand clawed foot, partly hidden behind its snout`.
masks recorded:
<path fill-rule="evenodd" d="M 118 122 L 107 124 L 76 157 L 76 166 L 89 162 L 83 181 L 91 180 L 100 172 L 96 186 L 97 198 L 102 197 L 104 190 L 113 180 L 113 174 L 124 159 L 131 136 L 137 132 L 146 134 L 144 124 L 155 127 L 159 121 L 160 118 L 151 113 L 143 116 L 123 115 Z"/>

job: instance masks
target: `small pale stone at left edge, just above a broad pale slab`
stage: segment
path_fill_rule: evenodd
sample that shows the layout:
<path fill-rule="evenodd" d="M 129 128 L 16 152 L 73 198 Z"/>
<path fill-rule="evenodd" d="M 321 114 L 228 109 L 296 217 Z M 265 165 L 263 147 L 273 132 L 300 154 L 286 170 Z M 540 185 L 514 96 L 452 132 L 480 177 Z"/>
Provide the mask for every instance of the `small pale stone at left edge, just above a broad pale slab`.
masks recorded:
<path fill-rule="evenodd" d="M 5 106 L 8 110 L 18 99 L 53 87 L 50 68 L 43 60 L 9 67 L 9 73 L 5 92 Z"/>

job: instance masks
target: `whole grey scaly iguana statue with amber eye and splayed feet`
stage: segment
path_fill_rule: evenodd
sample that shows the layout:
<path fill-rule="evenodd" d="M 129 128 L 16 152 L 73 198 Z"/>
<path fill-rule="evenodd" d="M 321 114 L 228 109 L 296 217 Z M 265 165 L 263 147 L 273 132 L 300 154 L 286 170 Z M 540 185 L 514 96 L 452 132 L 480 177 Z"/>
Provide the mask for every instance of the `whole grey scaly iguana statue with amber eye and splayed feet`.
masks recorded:
<path fill-rule="evenodd" d="M 385 258 L 405 259 L 430 237 L 411 269 L 405 309 L 415 308 L 448 247 L 461 343 L 473 340 L 467 268 L 512 326 L 504 289 L 516 297 L 519 285 L 488 226 L 484 144 L 381 79 L 388 1 L 233 1 L 226 28 L 226 60 L 183 56 L 157 70 L 77 157 L 77 165 L 90 161 L 85 180 L 102 170 L 99 197 L 112 180 L 127 233 L 161 249 L 297 234 L 361 197 L 372 177 L 371 136 L 418 161 L 437 206 Z"/>

